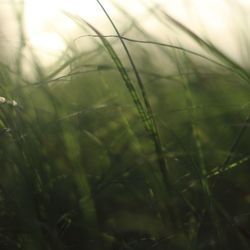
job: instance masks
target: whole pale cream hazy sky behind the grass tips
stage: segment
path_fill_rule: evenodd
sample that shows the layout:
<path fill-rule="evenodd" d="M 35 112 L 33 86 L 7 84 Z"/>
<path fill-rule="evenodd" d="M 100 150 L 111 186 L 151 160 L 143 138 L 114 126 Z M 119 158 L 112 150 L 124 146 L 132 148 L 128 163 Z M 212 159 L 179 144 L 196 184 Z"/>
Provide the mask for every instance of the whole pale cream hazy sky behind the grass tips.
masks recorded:
<path fill-rule="evenodd" d="M 18 2 L 18 1 L 16 1 Z M 74 39 L 75 24 L 62 13 L 66 10 L 88 20 L 105 34 L 110 34 L 112 28 L 103 11 L 95 0 L 25 0 L 25 21 L 28 43 L 42 55 L 53 58 L 65 48 L 62 37 Z M 193 30 L 213 39 L 220 46 L 227 47 L 231 53 L 238 53 L 237 34 L 235 30 L 244 28 L 248 30 L 248 14 L 250 13 L 249 0 L 113 0 L 113 2 L 131 13 L 139 20 L 143 27 L 154 33 L 157 39 L 169 39 L 161 36 L 162 28 L 156 18 L 148 14 L 146 6 L 152 7 L 156 4 L 162 6 L 167 13 L 184 22 Z M 8 1 L 0 1 L 1 9 L 5 11 L 5 23 L 9 23 L 6 32 L 11 33 L 11 20 L 13 16 L 7 12 Z M 101 0 L 112 18 L 119 23 L 121 14 L 112 5 L 111 0 Z M 18 5 L 18 4 L 16 4 Z M 146 5 L 146 6 L 145 6 Z M 244 13 L 245 12 L 245 13 Z M 9 21 L 8 21 L 9 20 Z M 126 19 L 123 17 L 123 22 Z M 15 41 L 15 30 L 7 40 Z M 50 60 L 47 57 L 47 60 Z"/>

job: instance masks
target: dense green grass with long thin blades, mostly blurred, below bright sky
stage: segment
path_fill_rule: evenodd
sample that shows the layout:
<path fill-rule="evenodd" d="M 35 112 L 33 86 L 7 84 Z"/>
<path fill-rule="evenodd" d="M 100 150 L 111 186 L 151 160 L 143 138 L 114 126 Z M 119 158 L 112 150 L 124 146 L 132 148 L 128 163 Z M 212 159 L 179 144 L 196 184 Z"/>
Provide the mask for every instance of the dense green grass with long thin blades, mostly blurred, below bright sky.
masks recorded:
<path fill-rule="evenodd" d="M 49 68 L 31 51 L 35 80 L 16 9 L 16 63 L 0 65 L 0 249 L 249 249 L 248 70 L 158 7 L 202 52 L 117 6 L 131 21 L 119 30 L 97 2 L 115 35 L 65 12 L 96 47 L 68 44 Z"/>

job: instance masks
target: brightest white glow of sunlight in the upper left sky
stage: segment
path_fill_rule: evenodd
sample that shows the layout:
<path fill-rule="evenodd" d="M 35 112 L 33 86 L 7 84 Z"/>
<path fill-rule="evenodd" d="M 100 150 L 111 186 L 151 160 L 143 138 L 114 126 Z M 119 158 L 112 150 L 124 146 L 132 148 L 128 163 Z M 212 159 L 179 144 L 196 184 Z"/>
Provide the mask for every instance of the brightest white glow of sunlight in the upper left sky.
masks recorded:
<path fill-rule="evenodd" d="M 111 4 L 102 1 L 112 11 Z M 64 39 L 70 37 L 76 24 L 63 11 L 80 16 L 94 25 L 100 24 L 104 13 L 94 0 L 26 0 L 25 21 L 29 45 L 38 56 L 44 53 L 55 57 L 66 48 Z"/>

